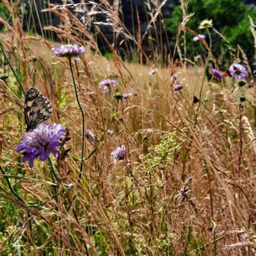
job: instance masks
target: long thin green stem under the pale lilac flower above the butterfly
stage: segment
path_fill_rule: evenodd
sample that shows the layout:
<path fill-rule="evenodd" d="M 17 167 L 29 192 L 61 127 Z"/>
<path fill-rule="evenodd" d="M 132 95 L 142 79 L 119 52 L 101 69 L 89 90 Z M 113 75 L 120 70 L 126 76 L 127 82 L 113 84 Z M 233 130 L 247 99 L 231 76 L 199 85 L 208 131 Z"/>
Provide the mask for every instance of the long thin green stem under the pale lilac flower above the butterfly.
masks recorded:
<path fill-rule="evenodd" d="M 80 183 L 80 181 L 82 180 L 83 163 L 84 163 L 85 116 L 84 116 L 83 107 L 82 107 L 82 105 L 79 101 L 79 97 L 78 97 L 78 91 L 77 91 L 75 76 L 73 73 L 71 57 L 69 57 L 69 67 L 70 67 L 70 71 L 71 71 L 73 86 L 74 86 L 75 93 L 76 93 L 77 104 L 78 104 L 78 107 L 79 107 L 79 110 L 80 110 L 81 116 L 82 116 L 82 153 L 81 153 L 81 163 L 80 163 L 80 167 L 79 167 L 80 172 L 79 172 L 79 177 L 78 177 L 78 183 Z"/>

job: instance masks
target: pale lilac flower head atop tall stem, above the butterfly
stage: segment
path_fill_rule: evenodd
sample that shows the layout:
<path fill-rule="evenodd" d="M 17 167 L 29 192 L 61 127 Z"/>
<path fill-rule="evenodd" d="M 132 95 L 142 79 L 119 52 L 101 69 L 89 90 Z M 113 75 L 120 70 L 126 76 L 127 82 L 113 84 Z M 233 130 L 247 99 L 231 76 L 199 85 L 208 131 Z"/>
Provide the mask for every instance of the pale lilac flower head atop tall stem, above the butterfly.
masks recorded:
<path fill-rule="evenodd" d="M 84 46 L 78 46 L 76 44 L 59 44 L 57 48 L 51 49 L 56 57 L 75 57 L 79 60 L 79 55 L 85 53 Z"/>

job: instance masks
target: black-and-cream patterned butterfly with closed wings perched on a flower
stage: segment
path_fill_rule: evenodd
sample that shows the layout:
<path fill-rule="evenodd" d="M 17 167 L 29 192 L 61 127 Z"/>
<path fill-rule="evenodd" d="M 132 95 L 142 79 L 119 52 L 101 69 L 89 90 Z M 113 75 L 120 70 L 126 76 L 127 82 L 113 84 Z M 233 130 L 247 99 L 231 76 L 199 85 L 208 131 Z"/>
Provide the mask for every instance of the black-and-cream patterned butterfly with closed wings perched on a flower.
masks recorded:
<path fill-rule="evenodd" d="M 47 120 L 52 113 L 51 103 L 36 88 L 31 87 L 26 92 L 24 116 L 26 131 L 33 130 L 37 125 Z"/>

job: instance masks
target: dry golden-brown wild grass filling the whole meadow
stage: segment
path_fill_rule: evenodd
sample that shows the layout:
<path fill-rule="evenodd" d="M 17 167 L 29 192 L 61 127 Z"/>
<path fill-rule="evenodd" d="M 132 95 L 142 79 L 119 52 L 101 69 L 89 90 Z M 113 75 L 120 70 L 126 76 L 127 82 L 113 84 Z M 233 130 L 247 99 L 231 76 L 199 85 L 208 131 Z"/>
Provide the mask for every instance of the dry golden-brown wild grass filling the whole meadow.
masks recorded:
<path fill-rule="evenodd" d="M 176 54 L 163 57 L 158 46 L 147 54 L 150 35 L 131 35 L 100 1 L 95 11 L 104 7 L 132 45 L 129 62 L 95 26 L 106 58 L 91 16 L 83 23 L 68 6 L 52 6 L 63 25 L 43 29 L 63 45 L 84 46 L 75 60 L 25 33 L 17 5 L 3 3 L 11 19 L 0 18 L 8 29 L 0 36 L 0 255 L 254 255 L 256 95 L 242 49 L 230 49 L 223 65 L 211 52 L 214 21 L 191 31 L 187 15 L 172 42 Z M 154 15 L 160 9 L 149 14 L 151 26 Z M 186 59 L 186 33 L 205 33 L 194 42 L 204 57 Z M 232 77 L 239 66 L 224 76 L 232 63 L 245 78 Z M 67 130 L 58 157 L 38 157 L 31 168 L 16 149 L 33 86 L 52 105 L 45 124 Z"/>

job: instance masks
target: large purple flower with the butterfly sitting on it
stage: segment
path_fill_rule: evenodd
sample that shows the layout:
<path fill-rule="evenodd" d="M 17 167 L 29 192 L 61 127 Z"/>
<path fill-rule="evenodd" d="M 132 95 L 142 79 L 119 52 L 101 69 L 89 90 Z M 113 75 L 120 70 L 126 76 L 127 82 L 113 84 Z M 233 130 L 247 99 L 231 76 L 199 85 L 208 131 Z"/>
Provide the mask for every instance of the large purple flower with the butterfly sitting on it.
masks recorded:
<path fill-rule="evenodd" d="M 35 130 L 26 132 L 22 141 L 17 144 L 17 152 L 23 151 L 22 163 L 29 160 L 29 166 L 33 167 L 33 161 L 39 157 L 45 161 L 53 153 L 58 157 L 57 147 L 62 145 L 66 129 L 60 124 L 40 124 Z"/>

